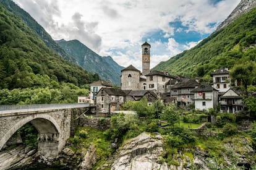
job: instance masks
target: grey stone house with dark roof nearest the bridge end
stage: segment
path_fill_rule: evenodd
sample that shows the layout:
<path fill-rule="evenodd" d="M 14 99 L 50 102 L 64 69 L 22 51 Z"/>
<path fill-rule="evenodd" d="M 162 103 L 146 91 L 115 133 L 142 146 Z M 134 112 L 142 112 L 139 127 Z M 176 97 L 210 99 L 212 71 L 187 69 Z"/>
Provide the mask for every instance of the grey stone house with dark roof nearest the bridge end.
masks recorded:
<path fill-rule="evenodd" d="M 118 111 L 125 99 L 126 93 L 123 90 L 103 87 L 96 94 L 97 113 L 108 114 Z"/>

